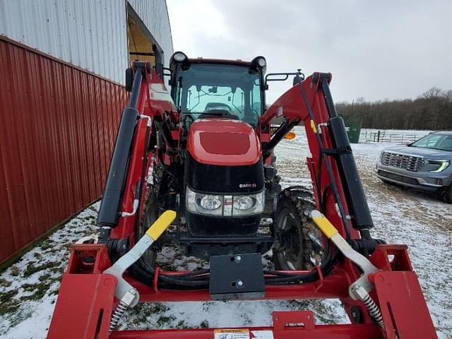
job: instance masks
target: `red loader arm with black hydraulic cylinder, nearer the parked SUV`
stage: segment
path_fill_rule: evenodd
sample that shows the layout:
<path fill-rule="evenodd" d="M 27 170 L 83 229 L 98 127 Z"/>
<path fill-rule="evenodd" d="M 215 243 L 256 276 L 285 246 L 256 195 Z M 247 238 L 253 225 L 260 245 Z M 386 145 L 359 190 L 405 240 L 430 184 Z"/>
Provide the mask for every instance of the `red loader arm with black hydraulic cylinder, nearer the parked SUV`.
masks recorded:
<path fill-rule="evenodd" d="M 360 234 L 363 239 L 355 247 L 369 248 L 371 253 L 376 242 L 371 241 L 369 229 L 374 225 L 343 119 L 335 112 L 329 90 L 331 73 L 314 73 L 304 80 L 295 74 L 295 85 L 261 117 L 263 139 L 268 140 L 263 143 L 263 155 L 270 157 L 285 133 L 303 123 L 317 208 L 347 240 L 359 239 Z M 283 117 L 284 122 L 270 137 L 270 121 L 275 117 Z"/>

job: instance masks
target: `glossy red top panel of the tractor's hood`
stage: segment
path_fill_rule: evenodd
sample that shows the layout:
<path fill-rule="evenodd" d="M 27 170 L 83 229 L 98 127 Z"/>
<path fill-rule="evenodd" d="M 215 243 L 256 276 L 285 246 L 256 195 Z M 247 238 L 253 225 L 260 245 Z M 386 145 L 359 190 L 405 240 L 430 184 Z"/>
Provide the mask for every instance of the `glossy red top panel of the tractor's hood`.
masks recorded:
<path fill-rule="evenodd" d="M 240 120 L 196 120 L 186 148 L 197 162 L 208 165 L 254 165 L 261 158 L 261 143 L 254 129 Z"/>

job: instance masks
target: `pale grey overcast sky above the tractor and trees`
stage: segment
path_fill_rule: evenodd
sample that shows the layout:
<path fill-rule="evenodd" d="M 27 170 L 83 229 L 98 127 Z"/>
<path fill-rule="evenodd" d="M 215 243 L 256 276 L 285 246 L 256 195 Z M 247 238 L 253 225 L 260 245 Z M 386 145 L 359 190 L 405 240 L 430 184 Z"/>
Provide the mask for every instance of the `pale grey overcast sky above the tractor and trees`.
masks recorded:
<path fill-rule="evenodd" d="M 333 73 L 336 102 L 452 89 L 452 1 L 167 0 L 174 51 Z M 271 83 L 268 103 L 290 83 Z"/>

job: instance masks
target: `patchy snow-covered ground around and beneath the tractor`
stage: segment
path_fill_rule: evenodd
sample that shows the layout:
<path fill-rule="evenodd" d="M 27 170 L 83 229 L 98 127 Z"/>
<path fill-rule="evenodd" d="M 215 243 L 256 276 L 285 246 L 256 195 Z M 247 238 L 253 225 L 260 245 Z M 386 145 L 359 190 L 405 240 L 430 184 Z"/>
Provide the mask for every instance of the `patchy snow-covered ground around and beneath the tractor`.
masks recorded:
<path fill-rule="evenodd" d="M 310 185 L 303 133 L 283 141 L 277 150 L 283 185 Z M 374 175 L 374 164 L 385 145 L 359 144 L 353 150 L 372 217 L 373 235 L 408 244 L 440 338 L 452 338 L 452 206 L 433 196 L 388 186 Z M 0 337 L 44 338 L 49 326 L 59 279 L 66 266 L 69 244 L 95 232 L 99 203 L 88 207 L 0 274 Z M 166 268 L 202 266 L 165 248 L 158 261 Z M 122 328 L 173 328 L 270 325 L 272 310 L 312 309 L 318 323 L 347 322 L 337 300 L 268 302 L 191 302 L 140 305 L 129 312 Z"/>

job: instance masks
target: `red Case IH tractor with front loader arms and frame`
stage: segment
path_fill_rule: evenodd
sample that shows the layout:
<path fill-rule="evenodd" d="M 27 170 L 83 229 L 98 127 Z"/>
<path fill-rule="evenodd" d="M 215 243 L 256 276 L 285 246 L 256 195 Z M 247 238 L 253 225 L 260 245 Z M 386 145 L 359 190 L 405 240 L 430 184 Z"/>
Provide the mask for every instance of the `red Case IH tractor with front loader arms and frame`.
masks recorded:
<path fill-rule="evenodd" d="M 100 233 L 71 247 L 48 338 L 436 338 L 407 247 L 371 237 L 330 73 L 266 75 L 263 57 L 182 52 L 165 71 L 139 61 L 126 71 L 130 102 Z M 266 109 L 268 82 L 292 76 L 292 88 Z M 297 124 L 309 141 L 312 192 L 278 183 L 273 150 Z M 169 244 L 209 268 L 161 270 L 155 258 Z M 261 261 L 270 249 L 273 270 Z M 325 298 L 340 299 L 349 324 L 274 311 L 268 327 L 117 329 L 138 302 Z"/>

